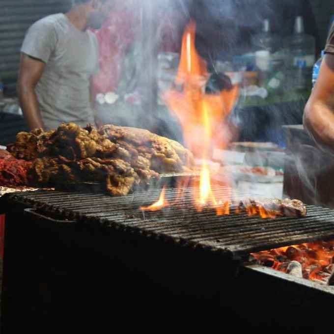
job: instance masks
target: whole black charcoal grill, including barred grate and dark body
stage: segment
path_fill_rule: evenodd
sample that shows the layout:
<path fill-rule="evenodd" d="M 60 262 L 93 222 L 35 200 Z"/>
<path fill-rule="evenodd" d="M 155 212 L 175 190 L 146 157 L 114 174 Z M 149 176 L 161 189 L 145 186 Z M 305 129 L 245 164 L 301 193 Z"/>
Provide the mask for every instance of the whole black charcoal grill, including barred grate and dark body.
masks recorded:
<path fill-rule="evenodd" d="M 227 196 L 223 188 L 214 191 Z M 168 201 L 176 194 L 175 189 L 167 189 Z M 231 321 L 246 319 L 245 325 L 256 323 L 263 329 L 278 321 L 276 308 L 278 312 L 281 307 L 298 306 L 294 314 L 301 312 L 305 317 L 310 309 L 320 312 L 313 303 L 334 302 L 333 287 L 261 266 L 244 266 L 253 251 L 334 238 L 334 212 L 330 209 L 308 206 L 306 218 L 269 220 L 236 215 L 232 207 L 231 215 L 217 216 L 212 210 L 196 212 L 190 189 L 172 207 L 159 212 L 139 210 L 159 195 L 160 191 L 151 191 L 112 198 L 39 191 L 4 196 L 2 326 L 14 326 L 18 313 L 28 314 L 30 322 L 38 323 L 41 313 L 54 319 L 60 305 L 62 309 L 80 309 L 82 317 L 83 302 L 78 301 L 82 301 L 83 291 L 94 307 L 103 305 L 98 307 L 99 317 L 111 307 L 106 309 L 101 303 L 106 295 L 117 300 L 116 309 L 129 310 L 131 304 L 131 310 L 135 308 L 141 317 L 144 314 L 139 310 L 145 302 L 154 313 L 182 306 L 192 317 L 197 312 L 203 318 L 221 316 L 223 310 Z M 28 262 L 23 250 L 29 252 Z M 29 277 L 28 272 L 33 275 Z M 23 276 L 27 279 L 24 284 Z M 93 294 L 86 291 L 87 285 Z M 44 299 L 38 300 L 36 295 Z M 69 302 L 71 295 L 75 297 Z M 33 306 L 27 302 L 31 299 Z M 262 309 L 259 320 L 255 310 L 263 308 L 263 303 L 269 303 L 273 313 Z M 284 323 L 278 321 L 276 326 L 294 326 L 293 314 L 284 317 Z"/>

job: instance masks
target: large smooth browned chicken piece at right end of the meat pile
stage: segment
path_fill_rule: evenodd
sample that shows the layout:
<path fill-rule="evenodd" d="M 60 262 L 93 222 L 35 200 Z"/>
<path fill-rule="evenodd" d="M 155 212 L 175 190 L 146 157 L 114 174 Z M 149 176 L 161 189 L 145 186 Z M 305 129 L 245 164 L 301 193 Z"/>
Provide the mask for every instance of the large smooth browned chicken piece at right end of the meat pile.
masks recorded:
<path fill-rule="evenodd" d="M 151 169 L 160 173 L 181 172 L 194 163 L 193 154 L 181 144 L 144 129 L 105 125 L 99 132 L 127 150 L 130 145 L 132 150 L 151 161 Z"/>

